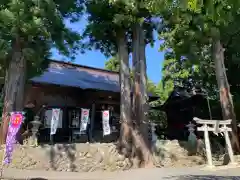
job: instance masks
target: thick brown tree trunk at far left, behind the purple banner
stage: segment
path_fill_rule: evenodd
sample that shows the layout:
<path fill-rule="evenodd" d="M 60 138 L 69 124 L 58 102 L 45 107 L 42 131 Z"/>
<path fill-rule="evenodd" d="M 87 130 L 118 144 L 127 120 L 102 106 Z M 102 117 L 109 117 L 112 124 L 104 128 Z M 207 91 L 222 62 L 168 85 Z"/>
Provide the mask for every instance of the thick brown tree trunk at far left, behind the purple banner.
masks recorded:
<path fill-rule="evenodd" d="M 13 45 L 12 49 L 12 56 L 5 76 L 3 123 L 1 125 L 2 143 L 4 143 L 6 139 L 9 113 L 12 111 L 22 111 L 24 103 L 26 63 L 18 42 Z"/>

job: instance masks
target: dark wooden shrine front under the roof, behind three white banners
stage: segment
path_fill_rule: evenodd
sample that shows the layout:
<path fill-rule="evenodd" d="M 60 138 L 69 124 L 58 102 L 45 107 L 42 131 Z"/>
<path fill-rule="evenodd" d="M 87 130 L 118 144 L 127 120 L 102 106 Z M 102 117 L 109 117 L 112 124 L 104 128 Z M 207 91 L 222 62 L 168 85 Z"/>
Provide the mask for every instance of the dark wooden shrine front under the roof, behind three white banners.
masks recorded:
<path fill-rule="evenodd" d="M 54 142 L 86 142 L 113 141 L 118 137 L 118 119 L 120 114 L 118 93 L 97 90 L 81 90 L 77 88 L 59 87 L 53 85 L 33 85 L 28 91 L 27 102 L 36 103 L 34 112 L 45 106 L 40 113 L 40 142 L 50 139 L 51 111 L 61 109 L 60 119 Z M 81 108 L 90 110 L 90 124 L 86 135 L 78 136 L 80 132 Z M 115 131 L 111 136 L 102 139 L 102 110 L 110 110 L 111 124 Z M 76 136 L 76 137 L 75 137 Z"/>

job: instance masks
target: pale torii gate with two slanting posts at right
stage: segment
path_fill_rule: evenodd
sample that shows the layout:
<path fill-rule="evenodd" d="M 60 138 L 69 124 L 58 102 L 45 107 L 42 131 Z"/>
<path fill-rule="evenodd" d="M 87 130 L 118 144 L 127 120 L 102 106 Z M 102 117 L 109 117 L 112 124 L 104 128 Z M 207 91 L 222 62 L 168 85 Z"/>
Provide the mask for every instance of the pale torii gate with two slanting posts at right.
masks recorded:
<path fill-rule="evenodd" d="M 205 119 L 199 119 L 197 117 L 194 117 L 193 120 L 197 123 L 202 125 L 201 127 L 197 128 L 197 131 L 203 131 L 204 132 L 204 141 L 205 141 L 205 147 L 206 147 L 206 154 L 207 154 L 207 162 L 208 167 L 214 167 L 212 162 L 212 152 L 211 152 L 211 145 L 209 140 L 209 132 L 213 132 L 214 134 L 218 135 L 218 133 L 223 133 L 226 141 L 226 147 L 230 159 L 230 164 L 236 164 L 234 161 L 234 154 L 229 138 L 228 132 L 232 131 L 232 128 L 228 127 L 228 125 L 231 124 L 232 120 L 205 120 Z"/>

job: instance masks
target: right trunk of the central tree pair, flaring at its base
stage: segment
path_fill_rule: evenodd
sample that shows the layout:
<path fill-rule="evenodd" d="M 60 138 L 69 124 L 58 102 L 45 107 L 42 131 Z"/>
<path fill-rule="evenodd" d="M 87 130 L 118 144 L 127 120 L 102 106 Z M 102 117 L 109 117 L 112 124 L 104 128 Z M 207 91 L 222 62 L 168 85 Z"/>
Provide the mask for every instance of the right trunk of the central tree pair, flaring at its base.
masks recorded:
<path fill-rule="evenodd" d="M 146 80 L 145 42 L 141 26 L 135 24 L 133 27 L 133 142 L 137 157 L 143 166 L 152 166 L 153 157 L 149 142 L 148 129 L 148 95 Z"/>

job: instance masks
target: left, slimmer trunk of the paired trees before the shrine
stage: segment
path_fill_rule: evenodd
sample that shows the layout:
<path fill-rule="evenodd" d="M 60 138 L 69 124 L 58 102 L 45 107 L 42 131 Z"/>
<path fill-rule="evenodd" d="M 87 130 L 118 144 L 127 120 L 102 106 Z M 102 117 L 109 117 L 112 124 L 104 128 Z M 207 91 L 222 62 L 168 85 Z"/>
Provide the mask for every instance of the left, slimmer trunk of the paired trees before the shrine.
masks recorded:
<path fill-rule="evenodd" d="M 130 85 L 130 68 L 129 55 L 127 49 L 127 42 L 125 32 L 118 35 L 118 58 L 120 61 L 120 88 L 121 88 L 121 105 L 120 105 L 120 121 L 121 130 L 119 145 L 120 151 L 129 156 L 131 153 L 131 85 Z"/>

